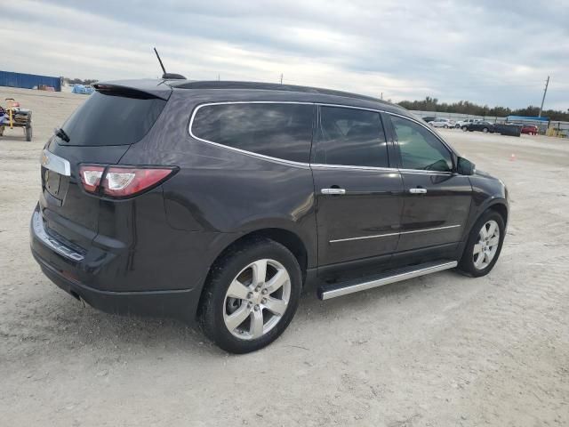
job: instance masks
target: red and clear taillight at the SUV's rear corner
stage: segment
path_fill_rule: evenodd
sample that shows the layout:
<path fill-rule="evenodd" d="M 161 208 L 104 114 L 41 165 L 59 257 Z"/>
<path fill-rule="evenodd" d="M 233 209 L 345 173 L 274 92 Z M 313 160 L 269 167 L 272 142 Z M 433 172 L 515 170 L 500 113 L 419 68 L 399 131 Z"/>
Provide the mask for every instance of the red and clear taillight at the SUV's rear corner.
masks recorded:
<path fill-rule="evenodd" d="M 82 165 L 79 167 L 85 191 L 115 198 L 132 197 L 152 189 L 172 176 L 176 170 L 173 167 L 118 165 Z"/>

